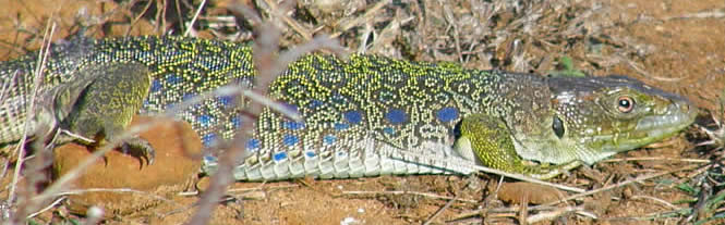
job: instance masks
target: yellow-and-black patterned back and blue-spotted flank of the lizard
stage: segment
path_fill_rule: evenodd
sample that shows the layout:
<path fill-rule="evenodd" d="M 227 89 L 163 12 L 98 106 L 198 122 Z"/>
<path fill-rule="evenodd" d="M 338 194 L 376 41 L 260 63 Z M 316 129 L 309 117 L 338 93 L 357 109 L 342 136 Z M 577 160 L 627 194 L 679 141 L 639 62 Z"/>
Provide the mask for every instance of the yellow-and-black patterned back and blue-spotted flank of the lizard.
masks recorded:
<path fill-rule="evenodd" d="M 10 68 L 27 73 L 35 65 L 35 55 L 2 63 L 0 66 L 9 70 L 0 73 Z M 74 37 L 55 45 L 50 55 L 43 88 L 73 82 L 75 77 L 69 72 L 92 64 L 146 65 L 153 82 L 142 114 L 164 112 L 222 85 L 250 86 L 255 75 L 247 45 L 174 36 L 99 40 Z M 365 141 L 409 150 L 427 142 L 451 146 L 461 115 L 481 109 L 497 113 L 482 105 L 500 99 L 487 96 L 500 85 L 500 77 L 452 63 L 373 55 L 353 55 L 342 62 L 312 54 L 285 73 L 273 84 L 271 96 L 300 110 L 305 121 L 291 122 L 266 110 L 247 143 L 255 157 L 247 159 L 240 171 L 279 163 L 289 159 L 288 154 L 299 158 L 302 152 L 307 157 L 354 152 L 370 147 L 362 145 Z M 21 84 L 32 89 L 32 83 Z M 244 121 L 240 115 L 243 108 L 240 99 L 218 97 L 181 109 L 177 116 L 190 122 L 206 146 L 214 146 L 216 140 L 233 137 Z M 208 158 L 208 163 L 214 163 L 214 158 Z"/>

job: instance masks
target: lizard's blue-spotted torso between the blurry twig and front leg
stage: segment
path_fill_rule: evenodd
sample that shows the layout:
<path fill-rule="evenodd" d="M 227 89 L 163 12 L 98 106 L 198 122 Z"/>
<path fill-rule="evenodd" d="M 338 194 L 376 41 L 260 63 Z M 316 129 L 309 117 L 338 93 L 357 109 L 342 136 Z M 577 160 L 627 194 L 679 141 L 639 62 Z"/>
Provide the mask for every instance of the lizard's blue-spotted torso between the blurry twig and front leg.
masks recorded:
<path fill-rule="evenodd" d="M 432 170 L 415 159 L 387 158 L 407 158 L 396 152 L 400 150 L 461 163 L 462 158 L 451 155 L 456 125 L 464 114 L 499 115 L 512 109 L 513 102 L 495 91 L 507 85 L 506 76 L 451 63 L 307 55 L 292 63 L 270 89 L 271 97 L 287 102 L 304 121 L 266 110 L 247 145 L 254 155 L 235 176 L 268 180 L 461 172 L 455 163 L 439 166 L 450 171 Z"/>

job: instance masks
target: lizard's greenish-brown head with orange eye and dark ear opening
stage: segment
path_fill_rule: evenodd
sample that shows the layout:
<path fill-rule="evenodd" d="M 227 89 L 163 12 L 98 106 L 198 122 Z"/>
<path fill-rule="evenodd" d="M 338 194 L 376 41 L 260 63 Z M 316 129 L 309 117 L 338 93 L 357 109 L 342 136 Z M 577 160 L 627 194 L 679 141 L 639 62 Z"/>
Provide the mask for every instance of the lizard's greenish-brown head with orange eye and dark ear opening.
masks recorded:
<path fill-rule="evenodd" d="M 625 76 L 552 77 L 547 83 L 553 112 L 539 122 L 537 137 L 517 147 L 517 152 L 524 149 L 519 152 L 524 159 L 591 164 L 670 137 L 697 115 L 687 99 Z"/>

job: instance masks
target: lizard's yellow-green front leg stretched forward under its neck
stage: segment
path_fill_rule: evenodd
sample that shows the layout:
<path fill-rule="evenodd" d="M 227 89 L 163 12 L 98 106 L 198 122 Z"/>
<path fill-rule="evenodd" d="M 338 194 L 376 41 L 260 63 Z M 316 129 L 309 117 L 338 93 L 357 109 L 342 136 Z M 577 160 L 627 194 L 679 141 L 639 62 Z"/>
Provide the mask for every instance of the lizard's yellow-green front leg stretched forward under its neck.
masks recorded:
<path fill-rule="evenodd" d="M 498 117 L 481 113 L 468 115 L 459 129 L 454 149 L 464 157 L 475 155 L 478 163 L 492 168 L 548 179 L 581 164 L 580 161 L 548 166 L 527 163 L 516 153 L 512 135 Z"/>

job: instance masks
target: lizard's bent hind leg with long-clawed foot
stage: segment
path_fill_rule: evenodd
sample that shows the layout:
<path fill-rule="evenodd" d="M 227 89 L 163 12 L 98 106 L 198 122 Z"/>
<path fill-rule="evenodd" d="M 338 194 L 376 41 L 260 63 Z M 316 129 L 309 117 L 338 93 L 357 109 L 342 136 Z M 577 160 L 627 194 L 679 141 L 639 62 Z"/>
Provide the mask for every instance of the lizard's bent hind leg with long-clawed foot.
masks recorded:
<path fill-rule="evenodd" d="M 93 146 L 114 141 L 148 95 L 152 79 L 148 68 L 138 63 L 92 64 L 76 74 L 75 78 L 93 82 L 68 110 L 61 128 L 96 140 Z M 125 138 L 119 147 L 124 153 L 145 159 L 147 164 L 153 164 L 156 157 L 150 143 L 140 137 Z"/>

